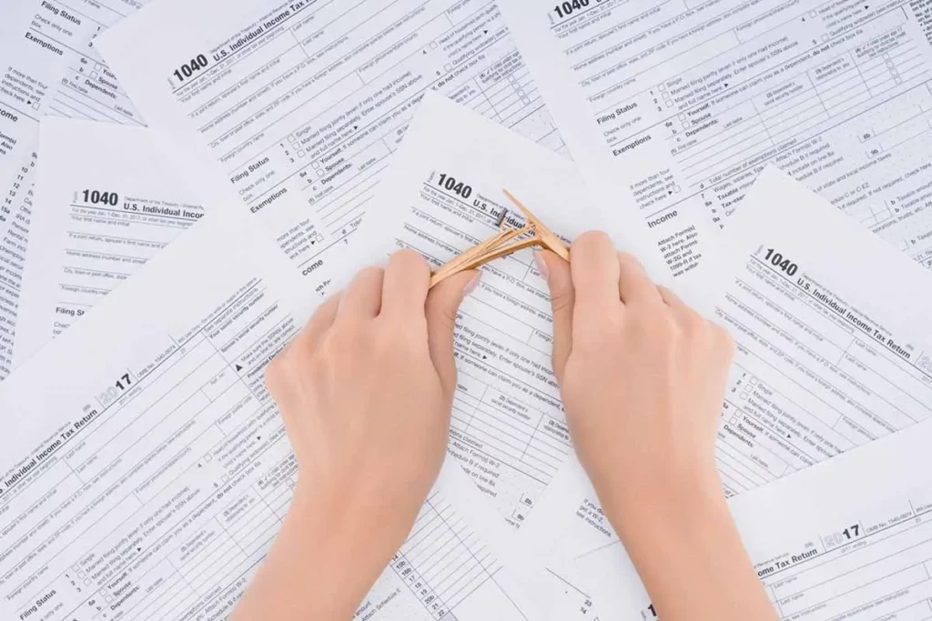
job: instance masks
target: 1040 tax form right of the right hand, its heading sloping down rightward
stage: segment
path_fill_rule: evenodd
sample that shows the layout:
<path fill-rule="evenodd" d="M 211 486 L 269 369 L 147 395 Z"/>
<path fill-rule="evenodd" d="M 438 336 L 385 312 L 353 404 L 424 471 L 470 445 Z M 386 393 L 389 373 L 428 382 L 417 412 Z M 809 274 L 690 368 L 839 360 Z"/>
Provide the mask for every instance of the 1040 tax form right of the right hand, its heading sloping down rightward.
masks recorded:
<path fill-rule="evenodd" d="M 765 483 L 929 425 L 927 271 L 774 168 L 726 233 L 708 257 L 720 276 L 706 279 L 713 304 L 705 311 L 736 342 L 717 445 L 729 495 L 742 502 Z M 768 510 L 774 520 L 816 515 L 809 505 L 786 507 Z M 555 541 L 554 532 L 566 536 Z M 556 571 L 575 564 L 587 575 L 582 583 L 609 618 L 637 591 L 619 586 L 631 584 L 619 573 L 633 569 L 576 462 L 520 536 Z M 600 582 L 610 567 L 614 584 Z"/>

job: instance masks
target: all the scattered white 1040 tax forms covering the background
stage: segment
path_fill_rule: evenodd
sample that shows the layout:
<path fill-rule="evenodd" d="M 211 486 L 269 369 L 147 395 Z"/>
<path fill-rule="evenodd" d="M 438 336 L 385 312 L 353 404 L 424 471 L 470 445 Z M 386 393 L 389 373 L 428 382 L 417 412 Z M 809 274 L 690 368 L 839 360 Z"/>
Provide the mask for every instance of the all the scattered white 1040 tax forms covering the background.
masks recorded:
<path fill-rule="evenodd" d="M 781 617 L 927 618 L 932 9 L 693 4 L 7 3 L 0 618 L 229 614 L 295 485 L 268 361 L 505 187 L 732 332 L 717 457 Z M 650 619 L 546 283 L 484 269 L 450 459 L 357 616 Z"/>

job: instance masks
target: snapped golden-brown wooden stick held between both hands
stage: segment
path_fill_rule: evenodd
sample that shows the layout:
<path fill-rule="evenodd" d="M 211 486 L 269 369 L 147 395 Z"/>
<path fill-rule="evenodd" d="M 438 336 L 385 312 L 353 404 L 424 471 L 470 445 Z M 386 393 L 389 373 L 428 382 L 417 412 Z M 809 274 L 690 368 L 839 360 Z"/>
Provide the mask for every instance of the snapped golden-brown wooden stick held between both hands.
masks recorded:
<path fill-rule="evenodd" d="M 502 229 L 493 236 L 488 237 L 470 250 L 466 250 L 450 261 L 438 267 L 431 276 L 431 287 L 446 278 L 465 272 L 466 270 L 475 269 L 490 261 L 507 256 L 518 250 L 538 246 L 554 252 L 564 261 L 569 261 L 569 247 L 551 231 L 546 224 L 530 212 L 521 201 L 515 198 L 508 190 L 502 190 L 505 196 L 521 210 L 525 217 L 525 225 L 521 228 Z M 507 210 L 502 211 L 498 225 L 505 220 Z M 527 237 L 514 239 L 528 235 Z"/>

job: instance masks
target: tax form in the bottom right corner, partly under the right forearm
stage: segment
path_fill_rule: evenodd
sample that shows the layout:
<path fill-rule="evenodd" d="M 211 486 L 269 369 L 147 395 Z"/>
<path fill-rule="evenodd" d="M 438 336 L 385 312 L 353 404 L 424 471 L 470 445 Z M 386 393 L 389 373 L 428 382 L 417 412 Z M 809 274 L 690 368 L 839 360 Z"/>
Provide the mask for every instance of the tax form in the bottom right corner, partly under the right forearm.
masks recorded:
<path fill-rule="evenodd" d="M 930 443 L 932 425 L 916 425 L 730 500 L 780 618 L 932 616 Z M 602 618 L 656 619 L 621 545 L 608 538 L 589 543 L 579 563 L 606 595 L 600 606 L 610 613 Z"/>

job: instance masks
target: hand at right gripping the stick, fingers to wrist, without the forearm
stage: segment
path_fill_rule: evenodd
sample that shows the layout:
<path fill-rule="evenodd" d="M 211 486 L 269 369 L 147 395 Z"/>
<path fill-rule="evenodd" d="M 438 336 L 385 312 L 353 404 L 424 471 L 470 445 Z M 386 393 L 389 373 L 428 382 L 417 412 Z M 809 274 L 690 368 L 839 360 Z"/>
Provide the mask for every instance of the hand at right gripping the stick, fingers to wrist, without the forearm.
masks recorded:
<path fill-rule="evenodd" d="M 554 311 L 554 370 L 580 462 L 612 525 L 723 498 L 715 440 L 733 342 L 655 285 L 604 233 L 571 262 L 539 251 Z"/>

